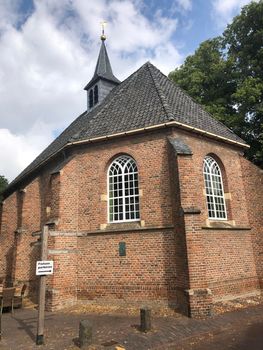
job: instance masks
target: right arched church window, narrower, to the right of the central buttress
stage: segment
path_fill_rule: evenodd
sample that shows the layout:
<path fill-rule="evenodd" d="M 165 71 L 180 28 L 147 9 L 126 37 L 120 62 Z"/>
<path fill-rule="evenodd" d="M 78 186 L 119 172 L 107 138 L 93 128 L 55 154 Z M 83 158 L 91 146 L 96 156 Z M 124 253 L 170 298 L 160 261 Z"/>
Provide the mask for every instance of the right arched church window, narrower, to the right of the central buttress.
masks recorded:
<path fill-rule="evenodd" d="M 226 204 L 222 174 L 219 165 L 211 156 L 206 156 L 203 166 L 206 203 L 209 219 L 226 220 Z"/>

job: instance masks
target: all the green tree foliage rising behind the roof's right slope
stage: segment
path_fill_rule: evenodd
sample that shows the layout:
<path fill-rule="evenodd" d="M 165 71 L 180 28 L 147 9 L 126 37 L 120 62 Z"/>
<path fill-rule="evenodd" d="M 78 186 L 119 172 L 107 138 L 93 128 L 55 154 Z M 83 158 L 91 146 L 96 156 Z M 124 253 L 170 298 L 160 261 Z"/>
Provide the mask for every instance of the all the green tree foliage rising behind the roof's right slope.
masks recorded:
<path fill-rule="evenodd" d="M 263 166 L 263 0 L 243 7 L 169 77 L 247 141 L 247 157 Z"/>

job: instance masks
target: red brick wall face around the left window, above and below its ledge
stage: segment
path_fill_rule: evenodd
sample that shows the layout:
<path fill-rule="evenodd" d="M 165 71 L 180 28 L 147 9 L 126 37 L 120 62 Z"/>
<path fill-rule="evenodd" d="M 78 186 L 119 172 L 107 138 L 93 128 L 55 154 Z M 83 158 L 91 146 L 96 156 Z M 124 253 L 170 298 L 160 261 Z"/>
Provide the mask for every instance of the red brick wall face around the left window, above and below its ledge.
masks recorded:
<path fill-rule="evenodd" d="M 101 225 L 107 225 L 107 201 L 101 196 L 107 195 L 108 166 L 120 153 L 133 156 L 137 162 L 145 227 L 173 224 L 167 141 L 157 134 L 79 149 L 60 174 L 60 232 L 98 231 Z M 120 227 L 127 229 L 123 224 L 110 224 L 107 229 Z M 132 228 L 141 228 L 138 223 L 128 228 L 131 232 L 125 236 L 106 235 L 102 230 L 78 238 L 78 297 L 94 299 L 101 294 L 108 300 L 130 301 L 168 298 L 175 303 L 173 232 L 132 232 Z M 127 256 L 119 257 L 118 244 L 124 238 Z M 62 258 L 55 257 L 57 263 Z"/>

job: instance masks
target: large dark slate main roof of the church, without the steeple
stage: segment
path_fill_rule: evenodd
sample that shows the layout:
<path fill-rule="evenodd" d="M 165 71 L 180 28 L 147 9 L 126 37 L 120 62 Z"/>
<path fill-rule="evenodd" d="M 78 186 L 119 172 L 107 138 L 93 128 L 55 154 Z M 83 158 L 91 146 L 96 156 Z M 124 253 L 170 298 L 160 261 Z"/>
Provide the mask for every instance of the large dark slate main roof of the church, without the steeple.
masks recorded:
<path fill-rule="evenodd" d="M 169 121 L 177 121 L 245 144 L 213 119 L 181 88 L 150 62 L 145 63 L 90 112 L 66 128 L 7 188 L 15 186 L 69 142 L 112 135 Z"/>

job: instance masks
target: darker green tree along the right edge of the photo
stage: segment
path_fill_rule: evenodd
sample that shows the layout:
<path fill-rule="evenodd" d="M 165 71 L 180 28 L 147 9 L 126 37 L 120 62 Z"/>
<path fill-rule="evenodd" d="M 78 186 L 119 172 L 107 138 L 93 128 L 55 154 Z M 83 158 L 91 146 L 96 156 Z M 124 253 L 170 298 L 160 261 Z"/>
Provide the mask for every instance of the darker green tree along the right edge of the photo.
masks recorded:
<path fill-rule="evenodd" d="M 237 89 L 233 103 L 244 121 L 240 135 L 251 145 L 249 158 L 263 166 L 263 1 L 243 7 L 223 33 L 233 61 Z"/>

